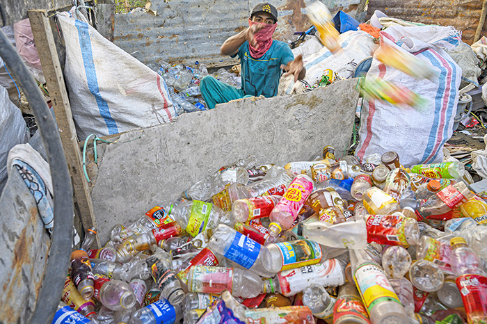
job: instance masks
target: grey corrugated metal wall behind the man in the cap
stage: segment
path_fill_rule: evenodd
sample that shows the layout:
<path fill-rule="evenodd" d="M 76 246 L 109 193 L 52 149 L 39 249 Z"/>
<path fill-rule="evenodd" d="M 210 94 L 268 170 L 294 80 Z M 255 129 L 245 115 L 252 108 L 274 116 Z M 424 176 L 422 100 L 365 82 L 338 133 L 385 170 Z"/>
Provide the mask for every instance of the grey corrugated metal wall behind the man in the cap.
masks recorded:
<path fill-rule="evenodd" d="M 295 40 L 295 31 L 311 25 L 303 14 L 306 4 L 315 0 L 274 0 L 279 10 L 275 39 Z M 194 65 L 228 64 L 220 55 L 223 42 L 248 26 L 250 9 L 262 0 L 154 0 L 151 12 L 115 15 L 115 44 L 143 63 L 162 58 L 168 62 Z M 322 1 L 333 12 L 355 14 L 360 0 Z M 155 13 L 155 15 L 154 15 Z"/>

